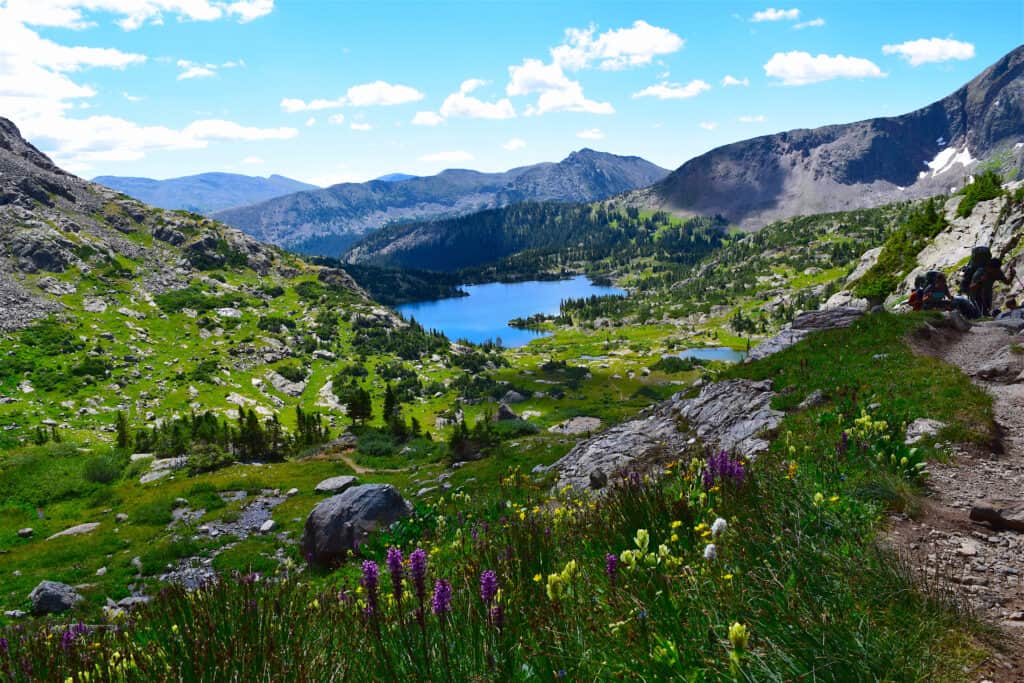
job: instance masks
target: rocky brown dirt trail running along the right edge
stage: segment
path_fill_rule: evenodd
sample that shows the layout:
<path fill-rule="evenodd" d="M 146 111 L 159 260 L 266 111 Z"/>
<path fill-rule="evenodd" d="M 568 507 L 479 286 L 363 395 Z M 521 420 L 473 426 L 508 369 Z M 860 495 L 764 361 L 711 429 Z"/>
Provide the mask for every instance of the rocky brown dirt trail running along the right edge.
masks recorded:
<path fill-rule="evenodd" d="M 959 449 L 949 463 L 931 463 L 921 514 L 894 518 L 890 537 L 928 584 L 1001 630 L 1000 652 L 965 672 L 967 680 L 1000 683 L 1024 681 L 1024 533 L 993 529 L 969 515 L 986 499 L 1024 503 L 1024 382 L 977 378 L 1012 343 L 1024 339 L 988 325 L 915 340 L 919 352 L 959 368 L 992 396 L 998 438 L 988 447 Z"/>

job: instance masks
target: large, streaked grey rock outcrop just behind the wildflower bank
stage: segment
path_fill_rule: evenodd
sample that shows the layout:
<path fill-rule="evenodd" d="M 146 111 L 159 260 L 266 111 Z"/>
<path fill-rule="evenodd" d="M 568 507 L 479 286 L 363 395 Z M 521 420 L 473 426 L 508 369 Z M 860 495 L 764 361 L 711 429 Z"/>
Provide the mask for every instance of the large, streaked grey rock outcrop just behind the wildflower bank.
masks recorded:
<path fill-rule="evenodd" d="M 783 417 L 770 407 L 774 395 L 770 382 L 751 380 L 709 384 L 693 398 L 677 394 L 648 415 L 578 443 L 551 466 L 556 485 L 598 488 L 626 470 L 646 469 L 696 445 L 756 458 Z"/>

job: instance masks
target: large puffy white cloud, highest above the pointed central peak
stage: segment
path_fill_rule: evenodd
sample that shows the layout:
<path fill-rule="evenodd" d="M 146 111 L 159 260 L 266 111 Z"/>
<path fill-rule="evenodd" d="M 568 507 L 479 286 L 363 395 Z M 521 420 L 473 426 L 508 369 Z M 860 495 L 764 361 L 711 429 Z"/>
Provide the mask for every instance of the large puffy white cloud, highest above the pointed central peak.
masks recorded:
<path fill-rule="evenodd" d="M 552 48 L 553 63 L 562 69 L 579 71 L 597 63 L 605 71 L 649 65 L 655 56 L 672 54 L 682 49 L 685 41 L 660 27 L 643 20 L 628 29 L 606 31 L 595 37 L 597 29 L 568 29 L 565 43 Z"/>

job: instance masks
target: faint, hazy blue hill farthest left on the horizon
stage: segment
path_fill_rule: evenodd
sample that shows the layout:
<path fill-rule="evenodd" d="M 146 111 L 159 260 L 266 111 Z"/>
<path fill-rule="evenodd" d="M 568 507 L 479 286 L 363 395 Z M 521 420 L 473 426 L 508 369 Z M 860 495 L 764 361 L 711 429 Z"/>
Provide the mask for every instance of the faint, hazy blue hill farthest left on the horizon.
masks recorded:
<path fill-rule="evenodd" d="M 260 178 L 238 173 L 200 173 L 167 180 L 100 175 L 92 181 L 161 209 L 184 209 L 196 213 L 213 213 L 304 189 L 317 189 L 316 185 L 283 175 Z"/>

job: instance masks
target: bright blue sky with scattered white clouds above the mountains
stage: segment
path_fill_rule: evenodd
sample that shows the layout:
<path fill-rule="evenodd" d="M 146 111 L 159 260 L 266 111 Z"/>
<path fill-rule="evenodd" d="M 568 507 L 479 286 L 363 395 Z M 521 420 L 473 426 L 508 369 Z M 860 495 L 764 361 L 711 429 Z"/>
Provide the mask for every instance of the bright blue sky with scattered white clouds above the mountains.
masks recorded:
<path fill-rule="evenodd" d="M 70 170 L 330 184 L 902 114 L 1024 3 L 0 0 L 0 116 Z"/>

